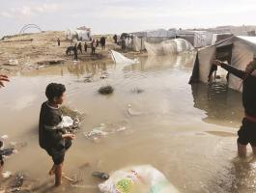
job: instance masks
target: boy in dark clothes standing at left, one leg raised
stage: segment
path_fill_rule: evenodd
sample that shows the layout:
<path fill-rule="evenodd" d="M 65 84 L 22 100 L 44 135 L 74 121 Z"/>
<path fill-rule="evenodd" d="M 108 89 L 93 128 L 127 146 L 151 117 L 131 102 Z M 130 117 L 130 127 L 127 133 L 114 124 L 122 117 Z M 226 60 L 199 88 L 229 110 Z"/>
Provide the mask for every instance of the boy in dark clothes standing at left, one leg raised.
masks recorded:
<path fill-rule="evenodd" d="M 55 186 L 61 185 L 62 168 L 65 153 L 71 147 L 73 134 L 66 133 L 58 125 L 62 122 L 62 111 L 59 107 L 64 101 L 66 88 L 62 84 L 51 83 L 46 87 L 48 100 L 43 102 L 39 123 L 39 143 L 53 160 L 49 175 L 55 175 Z"/>

